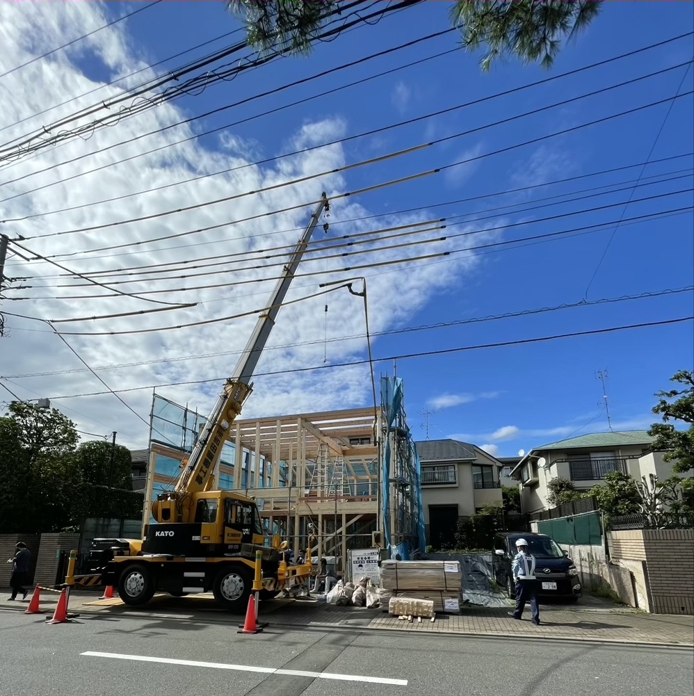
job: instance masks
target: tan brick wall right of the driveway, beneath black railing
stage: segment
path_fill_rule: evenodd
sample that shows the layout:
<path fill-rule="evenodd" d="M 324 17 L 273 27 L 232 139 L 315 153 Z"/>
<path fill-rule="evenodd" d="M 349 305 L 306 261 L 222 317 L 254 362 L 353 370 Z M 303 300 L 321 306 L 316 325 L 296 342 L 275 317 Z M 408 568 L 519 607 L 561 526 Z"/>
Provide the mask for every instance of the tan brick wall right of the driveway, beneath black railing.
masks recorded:
<path fill-rule="evenodd" d="M 609 543 L 613 560 L 642 567 L 634 576 L 649 611 L 694 615 L 694 530 L 610 532 Z"/>

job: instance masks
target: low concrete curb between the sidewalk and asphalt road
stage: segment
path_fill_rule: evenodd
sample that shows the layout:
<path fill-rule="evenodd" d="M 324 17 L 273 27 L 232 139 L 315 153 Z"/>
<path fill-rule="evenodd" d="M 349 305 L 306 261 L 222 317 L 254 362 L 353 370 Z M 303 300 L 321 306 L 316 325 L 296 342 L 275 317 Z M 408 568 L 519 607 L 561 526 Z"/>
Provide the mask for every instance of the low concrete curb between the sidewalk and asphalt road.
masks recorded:
<path fill-rule="evenodd" d="M 81 613 L 83 615 L 97 615 L 99 614 L 103 609 L 107 609 L 108 607 L 101 607 L 97 608 L 96 610 L 90 610 L 89 608 L 85 609 L 84 607 L 81 607 Z M 8 610 L 8 611 L 14 611 L 17 613 L 24 613 L 22 608 L 20 607 L 8 607 L 8 606 L 0 606 L 0 610 Z M 128 619 L 134 619 L 138 617 L 134 617 L 132 614 L 127 615 Z M 142 619 L 149 619 L 151 618 L 147 614 L 143 613 L 141 615 Z M 206 623 L 209 624 L 224 624 L 226 622 L 223 621 L 214 621 L 210 620 L 207 618 Z M 298 627 L 294 624 L 274 624 L 274 628 L 284 628 L 286 627 L 287 630 L 293 631 L 296 630 Z M 308 629 L 308 630 L 313 630 L 313 631 L 325 631 L 326 629 L 330 628 L 331 630 L 338 630 L 338 631 L 356 631 L 358 633 L 365 633 L 365 632 L 378 632 L 378 631 L 388 631 L 390 633 L 403 633 L 406 635 L 412 635 L 413 633 L 424 633 L 425 635 L 445 635 L 449 637 L 455 637 L 455 638 L 484 638 L 484 639 L 496 639 L 496 640 L 522 640 L 526 642 L 537 642 L 537 641 L 546 641 L 546 640 L 554 640 L 555 642 L 562 642 L 562 643 L 590 643 L 590 644 L 597 644 L 597 645 L 621 645 L 623 647 L 638 647 L 638 648 L 668 648 L 668 649 L 679 649 L 679 650 L 686 650 L 686 651 L 691 651 L 694 649 L 694 644 L 687 644 L 687 643 L 677 643 L 677 642 L 661 642 L 661 641 L 649 641 L 645 642 L 643 640 L 617 640 L 614 638 L 590 638 L 590 636 L 562 636 L 562 635 L 519 635 L 518 633 L 484 633 L 484 632 L 475 632 L 475 631 L 407 631 L 407 630 L 402 630 L 401 628 L 393 627 L 393 628 L 388 628 L 386 626 L 345 626 L 344 624 L 330 624 L 330 623 L 324 623 L 324 624 L 305 624 L 302 628 Z"/>

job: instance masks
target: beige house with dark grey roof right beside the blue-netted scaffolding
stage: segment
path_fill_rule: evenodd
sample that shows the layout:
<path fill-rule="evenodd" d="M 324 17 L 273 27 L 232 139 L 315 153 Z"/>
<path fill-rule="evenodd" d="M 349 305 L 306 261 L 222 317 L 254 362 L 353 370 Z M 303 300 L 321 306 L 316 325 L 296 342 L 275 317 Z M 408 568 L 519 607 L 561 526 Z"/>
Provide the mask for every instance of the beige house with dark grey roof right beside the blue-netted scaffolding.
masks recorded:
<path fill-rule="evenodd" d="M 485 505 L 502 505 L 499 471 L 503 465 L 475 445 L 457 440 L 416 443 L 422 467 L 424 523 L 429 544 L 440 548 L 455 542 L 460 516 Z"/>

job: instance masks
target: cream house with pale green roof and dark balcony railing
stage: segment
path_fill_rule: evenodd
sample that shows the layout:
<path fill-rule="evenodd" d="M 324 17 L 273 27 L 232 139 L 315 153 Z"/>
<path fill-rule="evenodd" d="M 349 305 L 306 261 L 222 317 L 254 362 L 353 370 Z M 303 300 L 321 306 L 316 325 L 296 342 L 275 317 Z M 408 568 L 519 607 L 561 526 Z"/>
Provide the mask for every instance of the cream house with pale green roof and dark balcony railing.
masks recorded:
<path fill-rule="evenodd" d="M 663 461 L 664 452 L 654 452 L 653 438 L 645 430 L 603 432 L 560 440 L 530 450 L 511 471 L 521 484 L 521 510 L 541 512 L 547 502 L 548 484 L 567 479 L 577 491 L 587 491 L 604 482 L 605 476 L 621 471 L 640 481 L 656 474 L 658 480 L 672 475 L 672 464 Z"/>

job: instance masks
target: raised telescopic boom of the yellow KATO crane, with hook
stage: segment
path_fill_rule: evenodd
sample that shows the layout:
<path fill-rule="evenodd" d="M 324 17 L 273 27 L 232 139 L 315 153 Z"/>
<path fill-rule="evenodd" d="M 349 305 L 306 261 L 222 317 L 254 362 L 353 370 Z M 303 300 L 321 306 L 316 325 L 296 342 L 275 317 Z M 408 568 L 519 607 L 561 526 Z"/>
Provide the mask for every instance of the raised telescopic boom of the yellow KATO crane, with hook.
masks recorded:
<path fill-rule="evenodd" d="M 190 454 L 187 466 L 178 479 L 175 490 L 173 493 L 163 494 L 163 496 L 166 496 L 166 500 L 172 502 L 175 500 L 178 521 L 186 522 L 191 516 L 190 505 L 184 504 L 185 500 L 190 500 L 190 494 L 209 491 L 214 484 L 212 472 L 216 462 L 221 457 L 221 450 L 226 441 L 228 430 L 241 412 L 244 402 L 251 394 L 253 372 L 258 365 L 262 350 L 265 348 L 267 339 L 275 324 L 282 302 L 289 290 L 303 253 L 306 251 L 310 237 L 318 224 L 320 215 L 324 210 L 327 211 L 329 209 L 329 200 L 324 192 L 313 216 L 311 216 L 308 226 L 304 230 L 303 235 L 301 235 L 301 239 L 294 247 L 290 260 L 283 268 L 282 275 L 278 279 L 269 303 L 260 314 L 260 317 L 258 317 L 255 329 L 246 343 L 246 347 L 232 372 L 232 376 L 227 379 L 223 393 L 219 395 L 210 417 L 205 422 L 198 441 Z M 327 225 L 324 226 L 324 230 L 327 232 Z M 235 475 L 239 474 L 235 473 Z M 158 509 L 161 509 L 161 507 L 157 506 Z M 154 509 L 152 512 L 155 516 L 158 516 Z"/>

